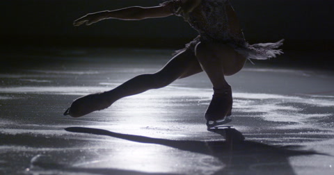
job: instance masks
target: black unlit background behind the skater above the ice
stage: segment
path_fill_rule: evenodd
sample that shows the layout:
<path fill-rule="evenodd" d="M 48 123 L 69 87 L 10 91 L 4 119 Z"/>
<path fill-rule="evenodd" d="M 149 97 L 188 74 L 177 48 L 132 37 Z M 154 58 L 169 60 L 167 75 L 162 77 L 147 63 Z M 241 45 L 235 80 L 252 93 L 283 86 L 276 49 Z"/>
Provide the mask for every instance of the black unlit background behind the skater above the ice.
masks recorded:
<path fill-rule="evenodd" d="M 180 49 L 196 36 L 181 17 L 142 21 L 105 20 L 93 26 L 72 26 L 88 12 L 126 6 L 155 6 L 160 0 L 3 0 L 0 1 L 2 48 L 16 46 L 169 47 Z M 334 1 L 231 0 L 246 40 L 285 39 L 285 51 L 321 51 L 333 58 Z M 329 55 L 328 55 L 329 54 Z M 297 59 L 297 58 L 295 58 Z M 314 60 L 314 58 L 298 58 Z"/>

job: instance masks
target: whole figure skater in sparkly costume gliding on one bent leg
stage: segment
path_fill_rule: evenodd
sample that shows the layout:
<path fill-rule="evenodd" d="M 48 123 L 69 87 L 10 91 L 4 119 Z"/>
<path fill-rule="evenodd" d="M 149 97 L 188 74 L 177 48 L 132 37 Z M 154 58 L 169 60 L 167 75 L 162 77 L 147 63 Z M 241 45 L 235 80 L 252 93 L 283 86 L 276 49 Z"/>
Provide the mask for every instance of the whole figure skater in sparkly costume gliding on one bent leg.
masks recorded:
<path fill-rule="evenodd" d="M 198 37 L 186 44 L 184 49 L 176 51 L 175 56 L 158 72 L 142 74 L 113 90 L 76 99 L 64 115 L 81 117 L 108 108 L 123 97 L 163 88 L 179 78 L 204 71 L 214 89 L 205 113 L 207 127 L 231 122 L 232 90 L 225 76 L 239 72 L 247 59 L 264 60 L 280 55 L 283 52 L 277 48 L 283 40 L 248 44 L 229 0 L 171 0 L 154 7 L 106 10 L 85 15 L 74 21 L 74 26 L 90 25 L 103 19 L 141 20 L 170 15 L 183 17 L 198 31 Z"/>

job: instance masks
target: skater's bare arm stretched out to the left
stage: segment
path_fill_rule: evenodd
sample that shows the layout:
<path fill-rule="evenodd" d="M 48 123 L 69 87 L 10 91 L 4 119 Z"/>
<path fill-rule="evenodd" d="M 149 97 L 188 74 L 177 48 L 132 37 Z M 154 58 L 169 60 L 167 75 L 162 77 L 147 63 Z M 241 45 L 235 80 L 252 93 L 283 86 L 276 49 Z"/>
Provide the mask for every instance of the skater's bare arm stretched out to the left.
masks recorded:
<path fill-rule="evenodd" d="M 171 4 L 170 4 L 171 6 Z M 74 26 L 90 25 L 103 19 L 141 20 L 147 18 L 168 17 L 173 15 L 168 6 L 140 7 L 133 6 L 118 10 L 106 10 L 85 15 L 74 21 Z"/>

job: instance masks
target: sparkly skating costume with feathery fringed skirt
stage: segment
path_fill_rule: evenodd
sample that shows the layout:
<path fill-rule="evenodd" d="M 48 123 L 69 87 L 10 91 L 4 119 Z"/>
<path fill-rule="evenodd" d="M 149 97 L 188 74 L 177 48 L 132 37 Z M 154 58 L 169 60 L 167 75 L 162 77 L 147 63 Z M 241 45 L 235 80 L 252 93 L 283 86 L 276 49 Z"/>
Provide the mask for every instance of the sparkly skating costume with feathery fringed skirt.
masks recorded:
<path fill-rule="evenodd" d="M 230 6 L 229 0 L 202 0 L 198 7 L 186 15 L 180 13 L 180 9 L 182 9 L 180 0 L 166 1 L 161 5 L 170 6 L 170 11 L 173 14 L 184 17 L 184 20 L 189 22 L 199 33 L 197 38 L 186 44 L 186 48 L 177 51 L 177 53 L 186 49 L 194 51 L 196 44 L 201 41 L 228 44 L 248 59 L 266 60 L 283 53 L 277 49 L 283 44 L 283 40 L 276 43 L 248 44 L 243 33 L 233 33 L 228 26 L 229 19 L 226 12 L 226 8 Z"/>

